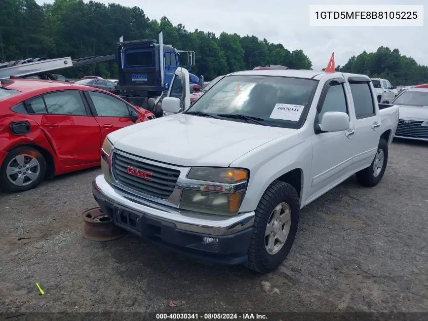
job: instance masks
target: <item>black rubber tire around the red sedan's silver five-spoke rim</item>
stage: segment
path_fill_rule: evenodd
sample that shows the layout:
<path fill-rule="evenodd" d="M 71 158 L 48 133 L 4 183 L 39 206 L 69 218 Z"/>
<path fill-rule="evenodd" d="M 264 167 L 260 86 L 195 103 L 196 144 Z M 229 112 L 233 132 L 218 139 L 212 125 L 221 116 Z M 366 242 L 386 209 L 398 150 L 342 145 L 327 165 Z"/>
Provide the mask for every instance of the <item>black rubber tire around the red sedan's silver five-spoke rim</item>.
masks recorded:
<path fill-rule="evenodd" d="M 30 155 L 31 157 L 35 158 L 38 161 L 38 176 L 35 180 L 30 182 L 27 185 L 18 186 L 13 184 L 9 179 L 8 175 L 6 173 L 6 168 L 11 160 L 13 160 L 18 155 Z M 25 157 L 26 161 L 29 159 L 28 157 Z M 33 168 L 34 169 L 34 168 Z M 34 169 L 35 170 L 35 169 Z M 24 172 L 24 170 L 23 170 Z M 18 174 L 17 174 L 18 175 Z M 23 192 L 30 190 L 34 187 L 36 187 L 38 184 L 40 184 L 46 175 L 46 160 L 43 157 L 43 155 L 37 151 L 36 149 L 29 147 L 29 146 L 22 146 L 17 147 L 10 151 L 8 153 L 8 156 L 6 156 L 5 160 L 3 161 L 2 168 L 0 168 L 0 186 L 6 191 L 9 192 Z M 14 176 L 15 177 L 15 176 Z M 29 179 L 25 179 L 24 183 Z"/>

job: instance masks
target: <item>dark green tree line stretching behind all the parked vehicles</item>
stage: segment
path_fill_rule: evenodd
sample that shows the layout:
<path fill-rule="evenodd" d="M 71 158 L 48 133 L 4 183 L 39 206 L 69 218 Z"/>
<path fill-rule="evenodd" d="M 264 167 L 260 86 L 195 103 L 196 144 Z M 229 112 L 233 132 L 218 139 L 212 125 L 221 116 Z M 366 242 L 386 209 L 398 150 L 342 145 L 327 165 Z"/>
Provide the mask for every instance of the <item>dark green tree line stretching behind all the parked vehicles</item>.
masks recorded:
<path fill-rule="evenodd" d="M 165 16 L 160 21 L 150 19 L 139 7 L 83 0 L 55 0 L 42 6 L 34 0 L 1 0 L 0 60 L 115 54 L 122 35 L 124 40 L 157 39 L 159 30 L 163 30 L 165 44 L 196 53 L 196 65 L 191 72 L 204 75 L 206 80 L 263 64 L 312 69 L 312 62 L 302 50 L 290 51 L 282 44 L 254 35 L 241 37 L 222 32 L 217 37 L 198 29 L 188 31 L 181 23 L 174 26 Z M 384 47 L 375 53 L 353 56 L 336 69 L 379 76 L 403 85 L 428 82 L 426 66 L 400 55 L 398 49 Z M 63 74 L 73 78 L 88 74 L 117 78 L 118 66 L 114 61 L 97 63 L 66 69 Z"/>

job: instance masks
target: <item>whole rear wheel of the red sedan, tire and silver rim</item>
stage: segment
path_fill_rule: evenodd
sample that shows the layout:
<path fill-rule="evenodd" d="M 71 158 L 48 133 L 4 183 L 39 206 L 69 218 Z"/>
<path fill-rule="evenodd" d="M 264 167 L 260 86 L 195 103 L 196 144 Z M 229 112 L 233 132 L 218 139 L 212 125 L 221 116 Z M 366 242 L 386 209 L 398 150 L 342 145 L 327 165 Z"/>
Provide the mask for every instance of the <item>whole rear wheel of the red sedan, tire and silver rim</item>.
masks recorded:
<path fill-rule="evenodd" d="M 32 147 L 18 147 L 8 153 L 0 169 L 0 183 L 11 192 L 23 192 L 40 184 L 46 174 L 46 160 Z"/>

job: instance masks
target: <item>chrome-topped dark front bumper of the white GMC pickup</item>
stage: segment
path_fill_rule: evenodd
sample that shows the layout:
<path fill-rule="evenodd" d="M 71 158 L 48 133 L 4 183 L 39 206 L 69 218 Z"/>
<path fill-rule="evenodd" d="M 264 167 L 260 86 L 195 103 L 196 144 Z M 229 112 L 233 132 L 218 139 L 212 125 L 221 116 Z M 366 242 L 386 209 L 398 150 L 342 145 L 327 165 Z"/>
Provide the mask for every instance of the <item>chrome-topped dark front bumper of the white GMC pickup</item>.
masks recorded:
<path fill-rule="evenodd" d="M 248 260 L 254 211 L 234 217 L 182 213 L 113 188 L 97 176 L 92 193 L 116 225 L 174 251 L 221 264 Z"/>

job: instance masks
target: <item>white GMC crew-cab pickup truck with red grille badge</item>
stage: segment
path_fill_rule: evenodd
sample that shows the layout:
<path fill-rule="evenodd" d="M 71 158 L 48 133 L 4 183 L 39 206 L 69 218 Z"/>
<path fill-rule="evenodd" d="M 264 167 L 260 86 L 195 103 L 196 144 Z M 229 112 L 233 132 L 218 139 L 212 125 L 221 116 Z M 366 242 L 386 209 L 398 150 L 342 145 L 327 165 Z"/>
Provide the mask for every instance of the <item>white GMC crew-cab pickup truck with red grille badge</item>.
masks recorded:
<path fill-rule="evenodd" d="M 249 70 L 192 105 L 188 83 L 178 68 L 162 101 L 178 114 L 104 141 L 92 191 L 131 233 L 266 273 L 289 253 L 303 206 L 355 173 L 364 186 L 382 179 L 399 112 L 379 110 L 367 76 Z"/>

